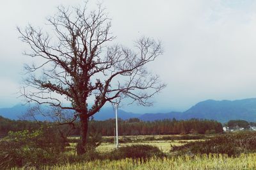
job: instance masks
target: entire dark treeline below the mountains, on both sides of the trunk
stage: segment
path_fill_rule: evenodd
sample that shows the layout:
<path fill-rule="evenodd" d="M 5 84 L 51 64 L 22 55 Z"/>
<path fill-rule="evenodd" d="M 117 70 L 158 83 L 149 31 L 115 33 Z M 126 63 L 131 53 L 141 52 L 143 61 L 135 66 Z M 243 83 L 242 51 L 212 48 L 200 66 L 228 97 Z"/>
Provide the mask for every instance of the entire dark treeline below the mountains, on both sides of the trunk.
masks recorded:
<path fill-rule="evenodd" d="M 56 124 L 56 123 L 54 123 Z M 36 130 L 41 125 L 46 125 L 46 122 L 32 121 L 14 121 L 8 120 L 0 116 L 0 136 L 7 135 L 9 131 L 19 130 Z M 47 122 L 47 125 L 51 123 Z M 70 127 L 58 126 L 60 131 L 68 132 L 67 135 L 79 135 L 79 123 Z M 115 120 L 105 121 L 89 121 L 89 131 L 101 135 L 114 135 Z M 157 121 L 140 121 L 138 118 L 129 120 L 118 120 L 119 135 L 167 135 L 167 134 L 214 134 L 223 132 L 221 123 L 213 120 L 157 120 Z"/>

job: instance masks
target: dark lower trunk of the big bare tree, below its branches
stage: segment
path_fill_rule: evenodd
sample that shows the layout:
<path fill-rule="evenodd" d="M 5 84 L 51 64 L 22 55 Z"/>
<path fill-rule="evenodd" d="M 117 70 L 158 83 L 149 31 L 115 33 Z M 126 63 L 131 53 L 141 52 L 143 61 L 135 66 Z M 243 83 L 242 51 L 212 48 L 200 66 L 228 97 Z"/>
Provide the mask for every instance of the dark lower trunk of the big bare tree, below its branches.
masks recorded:
<path fill-rule="evenodd" d="M 88 118 L 86 114 L 80 115 L 80 141 L 77 143 L 77 155 L 82 155 L 86 152 L 86 139 L 88 132 Z"/>

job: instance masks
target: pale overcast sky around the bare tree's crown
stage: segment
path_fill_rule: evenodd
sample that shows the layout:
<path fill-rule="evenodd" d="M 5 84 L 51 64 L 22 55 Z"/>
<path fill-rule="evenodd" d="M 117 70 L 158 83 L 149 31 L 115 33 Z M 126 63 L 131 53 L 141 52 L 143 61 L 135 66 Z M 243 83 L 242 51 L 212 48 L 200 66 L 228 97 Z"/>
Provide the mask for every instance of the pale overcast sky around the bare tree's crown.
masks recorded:
<path fill-rule="evenodd" d="M 90 6 L 94 1 L 90 1 Z M 168 84 L 154 107 L 132 112 L 184 111 L 207 99 L 256 97 L 256 1 L 105 0 L 116 42 L 131 45 L 141 36 L 161 40 L 164 55 L 148 68 Z M 16 26 L 44 28 L 56 6 L 83 1 L 8 0 L 0 6 L 0 107 L 21 101 L 17 91 L 23 64 Z M 89 6 L 89 8 L 90 8 Z"/>

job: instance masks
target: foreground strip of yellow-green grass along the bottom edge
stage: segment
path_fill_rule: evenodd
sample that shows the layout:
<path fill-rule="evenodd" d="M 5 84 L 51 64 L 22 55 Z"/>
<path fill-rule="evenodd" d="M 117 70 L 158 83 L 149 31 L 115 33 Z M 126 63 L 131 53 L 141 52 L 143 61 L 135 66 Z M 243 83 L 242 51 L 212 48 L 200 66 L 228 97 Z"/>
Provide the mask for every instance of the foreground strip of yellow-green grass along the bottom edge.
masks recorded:
<path fill-rule="evenodd" d="M 17 169 L 17 168 L 13 168 Z M 22 169 L 26 169 L 23 167 Z M 36 169 L 31 167 L 30 169 Z M 44 166 L 42 169 L 256 169 L 256 153 L 227 157 L 227 155 L 195 155 L 195 157 L 150 158 L 148 160 L 95 160 L 61 166 Z"/>

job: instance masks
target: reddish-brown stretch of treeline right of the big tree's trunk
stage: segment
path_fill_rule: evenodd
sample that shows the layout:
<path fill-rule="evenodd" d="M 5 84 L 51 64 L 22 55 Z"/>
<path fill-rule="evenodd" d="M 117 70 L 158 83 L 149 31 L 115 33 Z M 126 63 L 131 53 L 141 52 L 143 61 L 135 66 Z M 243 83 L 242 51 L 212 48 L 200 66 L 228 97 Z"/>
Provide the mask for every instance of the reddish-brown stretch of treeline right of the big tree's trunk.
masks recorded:
<path fill-rule="evenodd" d="M 115 120 L 90 121 L 89 130 L 102 135 L 114 135 Z M 167 135 L 167 134 L 207 134 L 223 132 L 221 123 L 213 120 L 157 120 L 140 121 L 138 118 L 118 120 L 120 135 Z"/>

